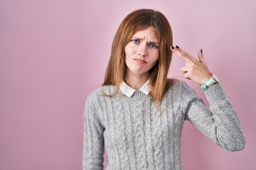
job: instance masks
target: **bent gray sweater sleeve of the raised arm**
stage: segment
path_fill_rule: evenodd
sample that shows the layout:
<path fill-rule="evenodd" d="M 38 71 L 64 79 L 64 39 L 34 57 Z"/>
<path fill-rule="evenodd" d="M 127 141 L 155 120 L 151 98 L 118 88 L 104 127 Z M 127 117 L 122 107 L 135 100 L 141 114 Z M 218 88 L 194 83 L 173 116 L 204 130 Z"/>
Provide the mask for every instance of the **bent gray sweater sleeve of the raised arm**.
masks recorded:
<path fill-rule="evenodd" d="M 186 108 L 186 119 L 217 145 L 228 151 L 239 151 L 245 147 L 240 121 L 223 92 L 220 84 L 214 84 L 205 91 L 210 109 L 193 89 L 182 84 L 181 96 Z"/>

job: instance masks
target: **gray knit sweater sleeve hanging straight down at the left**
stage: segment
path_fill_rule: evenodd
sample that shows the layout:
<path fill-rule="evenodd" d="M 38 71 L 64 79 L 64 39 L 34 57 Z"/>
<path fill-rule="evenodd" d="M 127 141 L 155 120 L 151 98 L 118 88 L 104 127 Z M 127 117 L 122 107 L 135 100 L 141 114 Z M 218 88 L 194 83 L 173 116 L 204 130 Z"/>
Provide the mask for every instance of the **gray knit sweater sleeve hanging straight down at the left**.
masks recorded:
<path fill-rule="evenodd" d="M 100 107 L 96 93 L 90 94 L 85 102 L 84 139 L 82 149 L 82 169 L 102 170 L 104 153 L 104 128 L 100 123 Z"/>

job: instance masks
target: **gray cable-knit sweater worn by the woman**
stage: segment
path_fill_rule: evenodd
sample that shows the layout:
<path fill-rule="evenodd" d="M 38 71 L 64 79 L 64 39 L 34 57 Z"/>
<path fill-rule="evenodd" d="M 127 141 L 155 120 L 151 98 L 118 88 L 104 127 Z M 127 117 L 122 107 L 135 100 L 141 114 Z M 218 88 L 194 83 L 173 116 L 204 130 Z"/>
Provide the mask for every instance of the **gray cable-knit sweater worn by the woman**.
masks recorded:
<path fill-rule="evenodd" d="M 83 170 L 181 169 L 181 130 L 189 120 L 217 145 L 229 151 L 245 147 L 238 117 L 220 84 L 205 91 L 210 103 L 179 81 L 166 92 L 159 108 L 151 96 L 135 91 L 114 97 L 114 86 L 101 86 L 87 96 L 83 142 Z"/>

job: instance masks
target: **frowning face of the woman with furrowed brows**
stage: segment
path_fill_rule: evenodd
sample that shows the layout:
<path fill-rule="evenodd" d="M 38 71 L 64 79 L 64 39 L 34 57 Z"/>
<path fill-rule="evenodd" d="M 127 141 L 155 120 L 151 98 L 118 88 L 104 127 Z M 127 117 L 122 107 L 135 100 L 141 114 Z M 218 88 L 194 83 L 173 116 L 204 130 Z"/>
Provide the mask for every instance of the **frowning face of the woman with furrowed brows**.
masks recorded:
<path fill-rule="evenodd" d="M 139 30 L 132 35 L 124 48 L 127 74 L 141 74 L 148 76 L 149 70 L 159 59 L 159 39 L 154 28 Z"/>

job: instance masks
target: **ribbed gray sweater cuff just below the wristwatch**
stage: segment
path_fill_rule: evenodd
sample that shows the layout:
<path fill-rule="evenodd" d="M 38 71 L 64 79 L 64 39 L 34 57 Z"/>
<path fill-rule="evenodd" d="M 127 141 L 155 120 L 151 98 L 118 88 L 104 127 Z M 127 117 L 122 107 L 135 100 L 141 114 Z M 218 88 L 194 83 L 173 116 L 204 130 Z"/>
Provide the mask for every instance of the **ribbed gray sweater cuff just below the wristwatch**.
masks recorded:
<path fill-rule="evenodd" d="M 208 102 L 212 105 L 220 106 L 228 99 L 219 83 L 213 84 L 204 92 Z"/>

